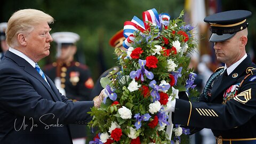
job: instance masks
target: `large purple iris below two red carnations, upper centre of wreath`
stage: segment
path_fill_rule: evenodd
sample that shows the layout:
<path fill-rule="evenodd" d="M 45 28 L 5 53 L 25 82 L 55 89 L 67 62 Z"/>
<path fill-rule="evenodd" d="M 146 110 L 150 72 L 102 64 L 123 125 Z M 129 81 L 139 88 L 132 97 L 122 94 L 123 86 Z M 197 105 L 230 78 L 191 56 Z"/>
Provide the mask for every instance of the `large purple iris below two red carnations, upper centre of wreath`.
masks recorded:
<path fill-rule="evenodd" d="M 130 77 L 131 78 L 135 78 L 135 77 L 137 77 L 137 78 L 139 78 L 140 77 L 140 79 L 141 79 L 141 81 L 143 82 L 144 81 L 144 74 L 146 74 L 146 77 L 148 78 L 148 79 L 153 79 L 154 78 L 154 74 L 152 73 L 152 72 L 150 72 L 150 71 L 148 71 L 147 69 L 145 69 L 145 65 L 146 65 L 146 60 L 141 60 L 141 59 L 139 59 L 139 64 L 140 64 L 140 69 L 138 69 L 137 71 L 131 71 L 131 73 L 130 73 Z"/>

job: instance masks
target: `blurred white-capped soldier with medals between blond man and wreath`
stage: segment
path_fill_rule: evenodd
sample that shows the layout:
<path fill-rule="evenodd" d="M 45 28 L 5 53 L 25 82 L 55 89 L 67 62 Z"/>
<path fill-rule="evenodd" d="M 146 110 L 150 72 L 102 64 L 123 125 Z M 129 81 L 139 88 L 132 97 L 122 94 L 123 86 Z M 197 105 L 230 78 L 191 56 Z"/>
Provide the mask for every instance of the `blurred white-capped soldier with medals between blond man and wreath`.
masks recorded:
<path fill-rule="evenodd" d="M 57 43 L 57 61 L 45 66 L 45 74 L 49 76 L 60 92 L 73 101 L 90 99 L 93 80 L 89 68 L 74 60 L 79 35 L 71 32 L 53 33 L 53 41 Z M 86 125 L 70 125 L 73 143 L 85 143 Z"/>

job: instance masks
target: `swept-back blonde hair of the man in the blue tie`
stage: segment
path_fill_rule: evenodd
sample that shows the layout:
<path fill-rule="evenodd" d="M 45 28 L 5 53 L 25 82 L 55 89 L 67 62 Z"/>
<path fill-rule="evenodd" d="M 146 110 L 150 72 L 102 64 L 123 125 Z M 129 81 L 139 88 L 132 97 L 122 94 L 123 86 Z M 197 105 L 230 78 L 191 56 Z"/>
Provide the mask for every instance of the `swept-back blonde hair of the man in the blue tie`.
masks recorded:
<path fill-rule="evenodd" d="M 12 14 L 6 29 L 6 43 L 10 47 L 18 46 L 17 36 L 30 33 L 41 22 L 53 23 L 51 15 L 35 9 L 19 10 Z"/>

